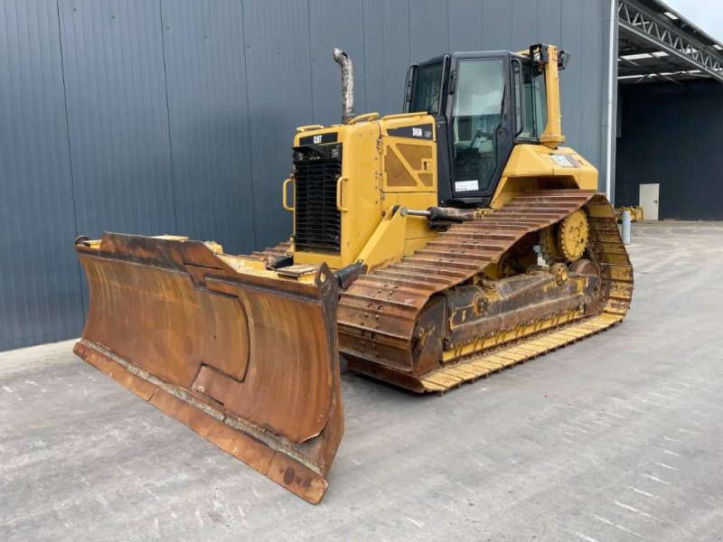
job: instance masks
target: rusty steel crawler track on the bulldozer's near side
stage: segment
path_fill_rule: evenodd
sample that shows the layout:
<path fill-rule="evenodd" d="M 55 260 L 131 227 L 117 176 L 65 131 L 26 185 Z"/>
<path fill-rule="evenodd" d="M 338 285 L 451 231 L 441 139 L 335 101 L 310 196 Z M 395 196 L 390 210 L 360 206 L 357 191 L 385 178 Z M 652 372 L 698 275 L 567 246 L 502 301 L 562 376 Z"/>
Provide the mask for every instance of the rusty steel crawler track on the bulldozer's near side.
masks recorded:
<path fill-rule="evenodd" d="M 460 345 L 465 356 L 437 369 L 420 375 L 409 371 L 418 316 L 434 294 L 484 272 L 521 237 L 580 208 L 587 211 L 590 228 L 588 257 L 600 268 L 595 313 L 588 310 L 574 321 L 557 314 L 547 322 L 530 322 L 540 331 L 524 337 L 520 329 L 500 330 L 465 349 Z M 416 391 L 441 392 L 605 330 L 624 318 L 632 294 L 633 269 L 604 195 L 525 192 L 482 218 L 450 227 L 413 256 L 357 279 L 339 301 L 340 350 L 351 369 Z"/>

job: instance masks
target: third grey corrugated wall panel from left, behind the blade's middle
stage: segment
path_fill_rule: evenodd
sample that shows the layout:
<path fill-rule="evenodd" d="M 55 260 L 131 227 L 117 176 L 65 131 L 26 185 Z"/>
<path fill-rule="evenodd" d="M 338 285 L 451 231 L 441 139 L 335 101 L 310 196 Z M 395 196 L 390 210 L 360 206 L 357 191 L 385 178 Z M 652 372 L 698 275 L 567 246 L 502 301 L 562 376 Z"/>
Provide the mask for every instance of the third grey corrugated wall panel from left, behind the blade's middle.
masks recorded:
<path fill-rule="evenodd" d="M 163 0 L 175 231 L 256 248 L 242 6 Z"/>

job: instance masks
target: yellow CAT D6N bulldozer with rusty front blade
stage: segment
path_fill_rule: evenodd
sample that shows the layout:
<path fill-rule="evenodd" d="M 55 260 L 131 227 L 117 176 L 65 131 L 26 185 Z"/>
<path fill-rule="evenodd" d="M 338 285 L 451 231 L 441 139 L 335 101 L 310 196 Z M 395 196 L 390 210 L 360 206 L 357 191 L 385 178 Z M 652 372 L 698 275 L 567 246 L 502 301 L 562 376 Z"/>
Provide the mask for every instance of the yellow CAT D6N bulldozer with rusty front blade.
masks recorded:
<path fill-rule="evenodd" d="M 104 233 L 75 248 L 74 351 L 309 502 L 343 435 L 348 369 L 418 393 L 621 322 L 633 269 L 593 164 L 564 146 L 569 55 L 455 52 L 408 68 L 401 113 L 299 126 L 281 184 L 293 233 L 213 241 Z"/>

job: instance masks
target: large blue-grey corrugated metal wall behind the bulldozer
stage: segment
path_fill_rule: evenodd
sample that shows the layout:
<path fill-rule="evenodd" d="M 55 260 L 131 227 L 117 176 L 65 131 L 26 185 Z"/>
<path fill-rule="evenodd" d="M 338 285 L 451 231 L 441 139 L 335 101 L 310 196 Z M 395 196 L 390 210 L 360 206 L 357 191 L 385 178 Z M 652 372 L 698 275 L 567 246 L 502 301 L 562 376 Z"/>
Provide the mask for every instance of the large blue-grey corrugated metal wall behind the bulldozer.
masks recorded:
<path fill-rule="evenodd" d="M 568 143 L 605 158 L 606 0 L 0 0 L 0 350 L 76 336 L 77 234 L 183 233 L 231 253 L 289 234 L 299 125 L 399 112 L 410 61 L 572 51 Z"/>

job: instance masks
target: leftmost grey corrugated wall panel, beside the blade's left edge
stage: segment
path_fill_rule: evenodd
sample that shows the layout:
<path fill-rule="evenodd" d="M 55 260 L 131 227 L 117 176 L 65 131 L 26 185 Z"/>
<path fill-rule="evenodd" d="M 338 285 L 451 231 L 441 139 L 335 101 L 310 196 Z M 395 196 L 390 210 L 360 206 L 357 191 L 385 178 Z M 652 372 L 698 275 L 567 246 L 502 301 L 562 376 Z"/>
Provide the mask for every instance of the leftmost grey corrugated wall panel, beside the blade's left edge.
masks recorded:
<path fill-rule="evenodd" d="M 80 331 L 58 11 L 0 8 L 0 350 Z"/>

